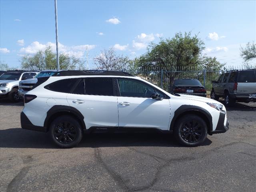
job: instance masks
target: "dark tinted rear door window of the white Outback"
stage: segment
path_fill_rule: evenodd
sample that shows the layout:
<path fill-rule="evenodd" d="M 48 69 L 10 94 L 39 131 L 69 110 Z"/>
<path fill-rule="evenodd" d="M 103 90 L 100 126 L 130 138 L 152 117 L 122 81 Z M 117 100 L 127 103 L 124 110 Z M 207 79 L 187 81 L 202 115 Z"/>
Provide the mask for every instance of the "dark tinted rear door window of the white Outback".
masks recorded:
<path fill-rule="evenodd" d="M 85 94 L 113 96 L 112 78 L 85 78 Z"/>

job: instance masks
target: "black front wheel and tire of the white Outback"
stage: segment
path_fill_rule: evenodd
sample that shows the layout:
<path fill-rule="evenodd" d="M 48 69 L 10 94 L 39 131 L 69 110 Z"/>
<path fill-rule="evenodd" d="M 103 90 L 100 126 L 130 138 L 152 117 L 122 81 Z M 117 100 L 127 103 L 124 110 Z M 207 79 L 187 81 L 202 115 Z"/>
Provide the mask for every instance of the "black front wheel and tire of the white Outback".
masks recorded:
<path fill-rule="evenodd" d="M 197 115 L 182 116 L 175 123 L 174 137 L 184 146 L 199 146 L 206 140 L 206 136 L 206 122 Z"/>

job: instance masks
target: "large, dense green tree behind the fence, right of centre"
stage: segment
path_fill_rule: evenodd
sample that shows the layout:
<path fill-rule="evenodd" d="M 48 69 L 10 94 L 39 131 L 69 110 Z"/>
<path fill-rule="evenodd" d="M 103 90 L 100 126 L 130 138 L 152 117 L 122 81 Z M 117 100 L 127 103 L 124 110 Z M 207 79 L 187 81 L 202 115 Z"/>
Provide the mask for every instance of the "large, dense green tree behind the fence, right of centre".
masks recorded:
<path fill-rule="evenodd" d="M 146 54 L 140 57 L 140 65 L 177 70 L 182 66 L 198 66 L 202 50 L 204 42 L 197 35 L 180 32 L 171 39 L 161 38 L 158 44 L 151 43 Z"/>

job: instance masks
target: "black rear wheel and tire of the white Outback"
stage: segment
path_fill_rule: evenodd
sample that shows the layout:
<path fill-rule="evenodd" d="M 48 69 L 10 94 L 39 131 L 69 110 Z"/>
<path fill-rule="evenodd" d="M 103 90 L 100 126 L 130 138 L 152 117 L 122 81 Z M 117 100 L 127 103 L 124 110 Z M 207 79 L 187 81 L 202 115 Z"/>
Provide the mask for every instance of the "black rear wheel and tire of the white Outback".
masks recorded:
<path fill-rule="evenodd" d="M 60 148 L 72 148 L 81 141 L 82 128 L 72 116 L 59 116 L 50 125 L 50 135 Z"/>

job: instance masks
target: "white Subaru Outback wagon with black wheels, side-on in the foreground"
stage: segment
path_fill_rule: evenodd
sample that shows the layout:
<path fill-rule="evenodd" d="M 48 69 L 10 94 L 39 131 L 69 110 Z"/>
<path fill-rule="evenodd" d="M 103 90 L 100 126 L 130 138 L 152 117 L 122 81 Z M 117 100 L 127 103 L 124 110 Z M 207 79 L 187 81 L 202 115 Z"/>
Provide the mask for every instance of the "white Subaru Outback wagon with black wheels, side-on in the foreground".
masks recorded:
<path fill-rule="evenodd" d="M 125 72 L 62 71 L 38 78 L 24 103 L 22 128 L 49 131 L 62 148 L 76 146 L 83 132 L 159 130 L 198 146 L 207 134 L 228 130 L 220 102 L 169 94 Z"/>

